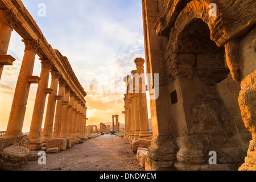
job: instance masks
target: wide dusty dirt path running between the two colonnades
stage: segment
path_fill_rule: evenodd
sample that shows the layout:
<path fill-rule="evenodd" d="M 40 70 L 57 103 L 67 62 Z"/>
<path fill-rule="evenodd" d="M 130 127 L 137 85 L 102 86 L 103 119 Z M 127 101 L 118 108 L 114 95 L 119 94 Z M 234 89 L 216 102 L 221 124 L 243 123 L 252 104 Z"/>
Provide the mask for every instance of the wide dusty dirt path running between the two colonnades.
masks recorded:
<path fill-rule="evenodd" d="M 19 171 L 143 171 L 130 143 L 115 135 L 89 139 L 83 144 L 46 155 L 46 165 L 27 162 Z"/>

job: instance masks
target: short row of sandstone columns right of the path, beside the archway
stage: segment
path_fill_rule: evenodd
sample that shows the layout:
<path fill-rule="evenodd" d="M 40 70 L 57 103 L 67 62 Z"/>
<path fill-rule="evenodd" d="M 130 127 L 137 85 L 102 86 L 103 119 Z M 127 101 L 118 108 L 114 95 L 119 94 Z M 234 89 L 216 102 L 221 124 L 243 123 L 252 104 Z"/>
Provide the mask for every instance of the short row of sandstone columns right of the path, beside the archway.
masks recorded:
<path fill-rule="evenodd" d="M 144 59 L 135 59 L 137 70 L 131 72 L 133 78 L 127 76 L 127 93 L 125 94 L 125 138 L 129 140 L 151 139 L 148 125 L 146 83 L 144 81 Z M 137 73 L 137 74 L 136 74 Z M 135 79 L 139 76 L 139 86 Z"/>

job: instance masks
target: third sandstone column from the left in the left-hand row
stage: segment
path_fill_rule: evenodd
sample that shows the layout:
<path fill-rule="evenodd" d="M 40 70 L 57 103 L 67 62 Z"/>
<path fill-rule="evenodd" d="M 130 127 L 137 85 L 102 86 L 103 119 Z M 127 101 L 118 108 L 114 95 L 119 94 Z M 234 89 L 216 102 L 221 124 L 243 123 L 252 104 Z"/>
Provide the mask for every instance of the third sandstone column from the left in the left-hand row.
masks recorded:
<path fill-rule="evenodd" d="M 41 148 L 41 129 L 44 116 L 44 107 L 46 105 L 47 88 L 49 82 L 49 72 L 52 67 L 51 60 L 41 60 L 41 80 L 38 84 L 38 90 L 35 98 L 34 112 L 32 115 L 32 121 L 30 126 L 30 150 L 38 150 Z M 52 91 L 52 90 L 51 90 Z"/>

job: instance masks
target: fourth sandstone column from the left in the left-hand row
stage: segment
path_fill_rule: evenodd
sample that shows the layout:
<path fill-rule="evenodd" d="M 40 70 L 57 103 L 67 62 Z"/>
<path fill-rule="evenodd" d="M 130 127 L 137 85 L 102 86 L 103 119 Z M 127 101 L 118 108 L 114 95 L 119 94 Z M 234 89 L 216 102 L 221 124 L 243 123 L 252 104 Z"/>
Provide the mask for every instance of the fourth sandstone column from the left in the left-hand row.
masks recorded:
<path fill-rule="evenodd" d="M 51 71 L 51 89 L 52 94 L 49 94 L 48 97 L 48 104 L 46 110 L 46 120 L 44 122 L 44 134 L 42 138 L 42 146 L 44 146 L 49 139 L 52 138 L 52 127 L 55 115 L 55 107 L 56 107 L 56 96 L 57 96 L 57 89 L 58 89 L 58 82 L 60 73 Z"/>

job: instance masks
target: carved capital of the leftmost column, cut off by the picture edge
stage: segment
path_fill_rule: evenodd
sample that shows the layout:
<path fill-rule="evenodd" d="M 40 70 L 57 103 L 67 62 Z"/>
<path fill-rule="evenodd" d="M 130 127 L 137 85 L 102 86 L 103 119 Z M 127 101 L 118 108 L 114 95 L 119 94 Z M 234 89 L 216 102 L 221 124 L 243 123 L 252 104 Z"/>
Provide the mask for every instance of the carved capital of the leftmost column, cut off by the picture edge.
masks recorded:
<path fill-rule="evenodd" d="M 18 20 L 16 19 L 13 10 L 0 10 L 0 22 L 7 24 L 13 29 Z"/>

